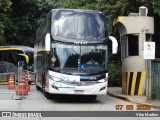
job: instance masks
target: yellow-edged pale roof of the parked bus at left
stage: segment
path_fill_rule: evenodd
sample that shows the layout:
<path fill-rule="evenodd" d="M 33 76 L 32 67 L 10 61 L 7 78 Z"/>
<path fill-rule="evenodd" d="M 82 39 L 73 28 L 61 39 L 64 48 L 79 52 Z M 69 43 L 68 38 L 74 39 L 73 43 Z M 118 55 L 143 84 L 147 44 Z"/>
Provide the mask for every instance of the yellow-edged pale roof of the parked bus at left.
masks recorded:
<path fill-rule="evenodd" d="M 34 51 L 34 48 L 28 47 L 28 46 L 23 46 L 23 45 L 8 45 L 8 46 L 0 46 L 0 50 L 2 49 L 21 49 L 23 51 Z"/>

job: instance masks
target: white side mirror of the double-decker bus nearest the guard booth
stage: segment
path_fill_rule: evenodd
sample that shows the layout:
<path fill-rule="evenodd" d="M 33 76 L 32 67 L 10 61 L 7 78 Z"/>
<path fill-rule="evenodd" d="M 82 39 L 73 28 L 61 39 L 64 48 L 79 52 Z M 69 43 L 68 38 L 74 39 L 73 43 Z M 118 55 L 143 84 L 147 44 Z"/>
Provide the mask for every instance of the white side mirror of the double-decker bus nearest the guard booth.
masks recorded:
<path fill-rule="evenodd" d="M 112 41 L 112 53 L 117 54 L 118 42 L 115 37 L 109 36 L 109 39 Z"/>

